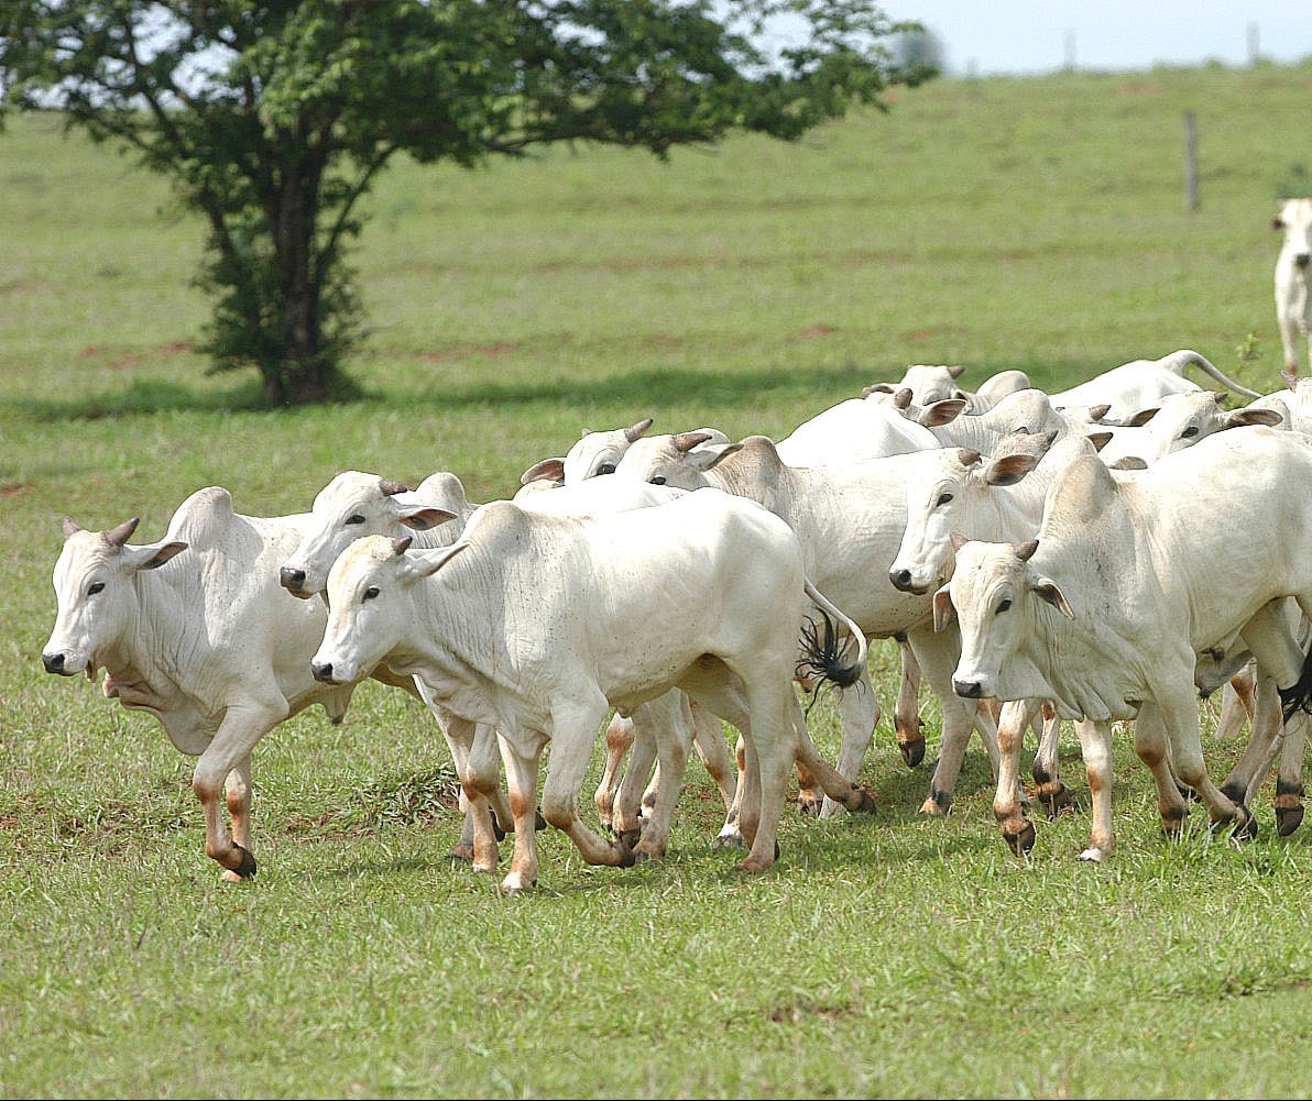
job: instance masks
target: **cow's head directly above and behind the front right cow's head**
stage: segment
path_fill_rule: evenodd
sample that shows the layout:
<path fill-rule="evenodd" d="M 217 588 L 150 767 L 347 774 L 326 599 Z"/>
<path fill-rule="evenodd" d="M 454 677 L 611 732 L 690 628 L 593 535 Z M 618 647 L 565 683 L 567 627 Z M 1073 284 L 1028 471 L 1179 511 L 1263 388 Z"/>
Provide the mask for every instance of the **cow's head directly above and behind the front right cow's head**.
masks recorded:
<path fill-rule="evenodd" d="M 1015 485 L 1052 443 L 1050 436 L 1033 439 L 1033 448 L 994 459 L 964 447 L 945 448 L 933 472 L 907 486 L 907 531 L 888 569 L 895 589 L 922 594 L 953 575 L 956 553 L 951 533 L 989 524 L 997 510 L 989 507 L 988 494 L 997 486 Z"/>

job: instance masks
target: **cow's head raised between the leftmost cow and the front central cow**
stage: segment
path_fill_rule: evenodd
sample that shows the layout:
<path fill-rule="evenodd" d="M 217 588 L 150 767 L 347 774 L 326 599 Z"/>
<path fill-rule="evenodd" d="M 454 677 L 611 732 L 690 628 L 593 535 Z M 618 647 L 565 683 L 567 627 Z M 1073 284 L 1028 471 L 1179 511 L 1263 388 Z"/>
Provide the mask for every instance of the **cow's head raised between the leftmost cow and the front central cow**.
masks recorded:
<path fill-rule="evenodd" d="M 366 535 L 400 536 L 455 519 L 455 512 L 416 499 L 404 482 L 346 471 L 325 485 L 310 511 L 310 524 L 278 581 L 293 596 L 321 592 L 337 557 Z"/>

